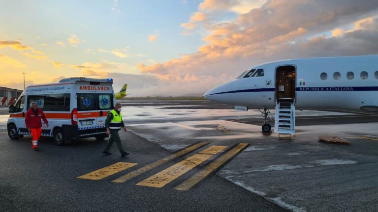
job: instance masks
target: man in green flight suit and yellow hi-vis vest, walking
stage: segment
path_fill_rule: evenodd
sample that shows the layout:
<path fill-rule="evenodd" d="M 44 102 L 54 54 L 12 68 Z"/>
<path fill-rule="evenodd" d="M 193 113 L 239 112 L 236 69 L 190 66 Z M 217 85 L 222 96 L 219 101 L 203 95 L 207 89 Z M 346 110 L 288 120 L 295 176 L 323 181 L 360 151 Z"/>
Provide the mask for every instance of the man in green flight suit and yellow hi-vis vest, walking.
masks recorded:
<path fill-rule="evenodd" d="M 118 134 L 118 131 L 121 130 L 121 127 L 125 130 L 125 132 L 127 131 L 125 128 L 124 121 L 122 120 L 121 107 L 122 107 L 121 104 L 117 103 L 114 106 L 114 109 L 110 111 L 108 113 L 108 116 L 106 117 L 106 120 L 105 120 L 106 134 L 110 134 L 111 136 L 108 142 L 106 143 L 106 147 L 104 151 L 102 152 L 103 154 L 111 155 L 111 153 L 109 153 L 109 150 L 110 150 L 110 147 L 113 145 L 114 141 L 116 142 L 122 157 L 125 157 L 126 155 L 129 154 L 126 151 L 124 151 L 124 148 L 122 147 L 122 144 L 121 144 L 120 135 Z"/>

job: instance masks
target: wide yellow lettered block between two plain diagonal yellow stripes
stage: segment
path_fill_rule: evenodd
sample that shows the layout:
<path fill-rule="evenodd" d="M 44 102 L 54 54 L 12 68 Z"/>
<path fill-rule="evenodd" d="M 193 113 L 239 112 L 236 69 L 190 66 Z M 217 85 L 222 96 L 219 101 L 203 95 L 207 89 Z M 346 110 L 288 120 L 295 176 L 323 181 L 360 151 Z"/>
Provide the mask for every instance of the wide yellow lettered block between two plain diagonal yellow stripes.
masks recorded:
<path fill-rule="evenodd" d="M 176 178 L 180 177 L 181 175 L 187 173 L 190 169 L 201 164 L 205 160 L 211 158 L 212 156 L 213 155 L 205 155 L 205 154 L 196 154 L 196 155 L 190 156 L 188 159 L 184 159 L 183 161 L 176 163 L 169 168 L 164 169 L 158 174 L 153 175 L 147 178 L 146 180 L 139 182 L 136 185 L 161 188 L 164 185 L 169 184 Z"/>

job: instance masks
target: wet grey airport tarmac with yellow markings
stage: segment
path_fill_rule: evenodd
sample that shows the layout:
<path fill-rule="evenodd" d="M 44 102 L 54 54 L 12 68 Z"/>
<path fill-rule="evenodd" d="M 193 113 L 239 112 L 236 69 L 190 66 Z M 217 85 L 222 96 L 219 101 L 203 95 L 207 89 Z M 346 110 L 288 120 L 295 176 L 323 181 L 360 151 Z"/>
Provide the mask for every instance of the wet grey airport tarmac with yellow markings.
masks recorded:
<path fill-rule="evenodd" d="M 64 147 L 45 139 L 42 151 L 35 153 L 27 136 L 12 141 L 0 131 L 1 201 L 14 211 L 39 206 L 57 211 L 325 212 L 378 208 L 375 116 L 296 111 L 296 134 L 288 139 L 274 132 L 263 135 L 259 111 L 235 111 L 203 101 L 170 105 L 166 101 L 144 105 L 140 101 L 122 102 L 129 132 L 121 134 L 131 153 L 126 159 L 117 155 L 115 146 L 112 156 L 101 156 L 104 143 L 94 139 Z M 0 115 L 0 129 L 5 130 L 6 119 L 7 115 Z M 274 122 L 270 123 L 273 127 Z M 337 135 L 350 143 L 319 142 L 319 135 Z M 175 155 L 160 165 L 161 159 Z M 191 163 L 184 165 L 187 161 Z M 101 180 L 77 179 L 117 162 L 129 164 Z M 35 197 L 31 199 L 32 194 Z"/>

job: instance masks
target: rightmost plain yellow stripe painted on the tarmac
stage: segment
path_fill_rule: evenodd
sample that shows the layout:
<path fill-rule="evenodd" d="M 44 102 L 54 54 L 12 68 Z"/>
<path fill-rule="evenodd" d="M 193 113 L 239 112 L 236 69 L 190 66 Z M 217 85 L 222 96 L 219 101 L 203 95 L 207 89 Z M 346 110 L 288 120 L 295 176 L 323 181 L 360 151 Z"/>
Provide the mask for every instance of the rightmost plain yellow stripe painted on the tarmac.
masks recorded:
<path fill-rule="evenodd" d="M 184 181 L 182 184 L 176 186 L 175 190 L 189 190 L 191 187 L 199 183 L 202 179 L 206 176 L 211 174 L 217 168 L 219 168 L 224 162 L 231 159 L 234 155 L 242 151 L 245 147 L 247 147 L 247 143 L 239 143 L 236 147 L 232 148 L 230 151 L 223 154 L 221 157 L 216 159 L 215 161 L 211 162 L 210 164 L 206 165 L 204 169 L 197 172 L 194 176 L 189 178 L 188 180 Z"/>

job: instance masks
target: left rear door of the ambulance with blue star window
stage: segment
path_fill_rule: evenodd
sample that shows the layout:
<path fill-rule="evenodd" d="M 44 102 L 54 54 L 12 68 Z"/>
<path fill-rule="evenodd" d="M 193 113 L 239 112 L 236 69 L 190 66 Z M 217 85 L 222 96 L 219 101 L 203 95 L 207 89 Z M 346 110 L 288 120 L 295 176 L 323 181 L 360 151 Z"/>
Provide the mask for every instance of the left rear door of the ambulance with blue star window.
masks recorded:
<path fill-rule="evenodd" d="M 78 89 L 77 89 L 78 90 Z M 92 134 L 97 127 L 97 106 L 95 91 L 77 93 L 77 125 L 80 134 Z"/>

